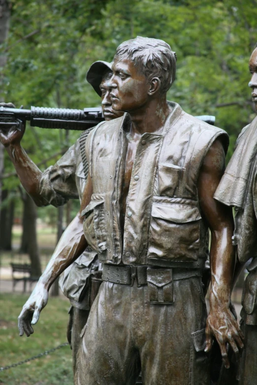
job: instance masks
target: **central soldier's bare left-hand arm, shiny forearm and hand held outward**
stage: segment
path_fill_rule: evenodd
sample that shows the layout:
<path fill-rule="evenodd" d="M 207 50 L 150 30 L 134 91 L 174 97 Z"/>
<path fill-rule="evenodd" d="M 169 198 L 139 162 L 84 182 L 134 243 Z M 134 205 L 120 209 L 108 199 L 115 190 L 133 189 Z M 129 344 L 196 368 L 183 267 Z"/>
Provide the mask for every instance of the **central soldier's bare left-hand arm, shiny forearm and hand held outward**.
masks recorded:
<path fill-rule="evenodd" d="M 29 337 L 33 333 L 32 325 L 37 323 L 41 310 L 47 304 L 51 285 L 65 268 L 75 261 L 86 249 L 87 241 L 84 237 L 83 219 L 80 213 L 89 204 L 91 195 L 92 180 L 89 176 L 83 193 L 80 212 L 64 231 L 52 258 L 19 315 L 18 327 L 20 335 L 23 335 L 25 332 Z"/>

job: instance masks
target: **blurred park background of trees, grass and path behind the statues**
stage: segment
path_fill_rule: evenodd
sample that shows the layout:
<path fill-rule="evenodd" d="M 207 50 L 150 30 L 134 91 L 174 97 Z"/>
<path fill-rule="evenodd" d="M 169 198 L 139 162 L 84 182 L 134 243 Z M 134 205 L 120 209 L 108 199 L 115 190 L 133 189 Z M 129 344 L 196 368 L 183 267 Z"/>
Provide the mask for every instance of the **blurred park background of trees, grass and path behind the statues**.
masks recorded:
<path fill-rule="evenodd" d="M 229 160 L 241 129 L 256 116 L 248 88 L 256 20 L 256 0 L 0 0 L 0 101 L 17 108 L 100 106 L 86 81 L 92 62 L 111 61 L 116 47 L 137 35 L 160 38 L 178 58 L 168 99 L 190 114 L 214 115 L 230 135 Z M 27 124 L 22 146 L 43 171 L 79 135 Z M 20 294 L 22 279 L 13 293 L 13 277 L 40 275 L 79 202 L 35 207 L 2 147 L 0 191 L 1 367 L 65 341 L 69 302 L 57 285 L 59 297 L 50 299 L 36 333 L 17 337 L 17 316 L 29 294 Z M 28 264 L 32 272 L 14 273 L 11 264 Z M 233 293 L 239 303 L 243 279 Z M 28 282 L 27 292 L 33 285 Z M 0 384 L 72 384 L 69 348 L 0 372 Z"/>

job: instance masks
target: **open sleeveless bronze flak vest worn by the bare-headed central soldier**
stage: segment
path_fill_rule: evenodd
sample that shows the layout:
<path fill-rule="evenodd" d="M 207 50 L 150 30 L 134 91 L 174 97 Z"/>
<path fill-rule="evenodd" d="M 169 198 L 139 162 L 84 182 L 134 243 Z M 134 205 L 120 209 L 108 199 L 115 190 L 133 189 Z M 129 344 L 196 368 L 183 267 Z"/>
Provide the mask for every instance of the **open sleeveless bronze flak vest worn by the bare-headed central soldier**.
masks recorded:
<path fill-rule="evenodd" d="M 83 210 L 84 234 L 103 263 L 202 267 L 209 232 L 198 200 L 203 159 L 225 131 L 168 102 L 161 133 L 144 133 L 137 145 L 129 185 L 124 233 L 120 203 L 127 153 L 129 115 L 100 123 L 88 135 L 86 156 L 93 183 Z"/>

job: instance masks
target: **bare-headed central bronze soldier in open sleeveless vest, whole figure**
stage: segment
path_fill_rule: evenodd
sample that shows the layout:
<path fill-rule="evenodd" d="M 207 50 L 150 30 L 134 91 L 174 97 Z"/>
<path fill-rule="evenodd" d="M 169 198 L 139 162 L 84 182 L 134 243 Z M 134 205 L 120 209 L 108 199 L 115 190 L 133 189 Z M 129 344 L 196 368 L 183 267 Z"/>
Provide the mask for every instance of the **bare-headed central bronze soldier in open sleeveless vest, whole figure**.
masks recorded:
<path fill-rule="evenodd" d="M 90 245 L 103 263 L 103 283 L 81 333 L 75 384 L 132 385 L 141 367 L 147 385 L 207 385 L 212 335 L 226 366 L 226 344 L 235 352 L 243 346 L 229 310 L 232 212 L 213 199 L 228 137 L 166 101 L 176 56 L 164 41 L 122 43 L 112 69 L 113 108 L 127 114 L 87 138 L 83 210 L 24 305 L 20 332 L 30 332 L 51 284 Z M 206 344 L 201 272 L 208 229 Z"/>

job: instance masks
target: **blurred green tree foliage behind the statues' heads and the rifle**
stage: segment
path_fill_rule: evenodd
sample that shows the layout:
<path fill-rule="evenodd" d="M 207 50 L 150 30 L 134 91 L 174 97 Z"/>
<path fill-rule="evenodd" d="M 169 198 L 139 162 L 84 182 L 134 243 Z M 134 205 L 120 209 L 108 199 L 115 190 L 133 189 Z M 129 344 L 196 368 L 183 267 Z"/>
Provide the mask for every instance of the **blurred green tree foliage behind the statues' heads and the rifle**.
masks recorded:
<path fill-rule="evenodd" d="M 90 64 L 112 60 L 118 44 L 136 35 L 161 38 L 178 56 L 168 98 L 193 115 L 215 115 L 230 135 L 229 157 L 239 132 L 255 116 L 248 60 L 256 20 L 252 0 L 13 1 L 2 47 L 8 54 L 2 94 L 25 108 L 97 106 L 99 97 L 86 82 Z M 69 145 L 78 135 L 70 133 Z M 64 137 L 64 132 L 28 127 L 23 146 L 40 162 L 67 145 Z M 12 170 L 7 160 L 5 171 Z M 16 186 L 18 180 L 5 183 Z"/>

